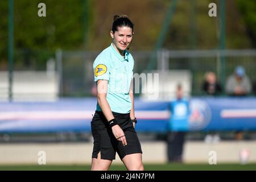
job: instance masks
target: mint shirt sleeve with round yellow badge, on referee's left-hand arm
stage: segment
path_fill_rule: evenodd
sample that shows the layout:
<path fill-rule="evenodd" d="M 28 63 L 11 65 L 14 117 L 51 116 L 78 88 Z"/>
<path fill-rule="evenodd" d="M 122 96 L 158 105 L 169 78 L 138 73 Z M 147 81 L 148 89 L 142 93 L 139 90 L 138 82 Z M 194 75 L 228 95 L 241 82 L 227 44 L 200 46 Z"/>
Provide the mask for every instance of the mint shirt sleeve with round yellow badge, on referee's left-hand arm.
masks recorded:
<path fill-rule="evenodd" d="M 109 71 L 110 67 L 108 61 L 106 61 L 102 56 L 98 56 L 93 63 L 94 81 L 109 80 Z"/>

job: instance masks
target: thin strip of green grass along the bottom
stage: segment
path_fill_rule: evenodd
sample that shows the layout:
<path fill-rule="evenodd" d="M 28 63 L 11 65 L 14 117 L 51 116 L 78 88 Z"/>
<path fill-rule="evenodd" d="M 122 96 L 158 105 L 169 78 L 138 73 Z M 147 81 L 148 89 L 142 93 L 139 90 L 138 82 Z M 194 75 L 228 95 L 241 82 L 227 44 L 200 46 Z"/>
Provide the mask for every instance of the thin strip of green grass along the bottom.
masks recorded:
<path fill-rule="evenodd" d="M 256 163 L 254 164 L 216 164 L 216 165 L 209 165 L 209 164 L 145 164 L 145 170 L 147 171 L 232 171 L 232 170 L 246 170 L 246 171 L 255 171 L 256 170 Z M 88 171 L 90 170 L 89 165 L 74 165 L 74 166 L 57 166 L 57 165 L 6 165 L 0 166 L 0 171 L 3 170 L 10 170 L 10 171 L 41 171 L 41 170 L 48 170 L 48 171 Z M 110 167 L 110 170 L 113 171 L 123 171 L 126 168 L 123 165 L 113 165 Z"/>

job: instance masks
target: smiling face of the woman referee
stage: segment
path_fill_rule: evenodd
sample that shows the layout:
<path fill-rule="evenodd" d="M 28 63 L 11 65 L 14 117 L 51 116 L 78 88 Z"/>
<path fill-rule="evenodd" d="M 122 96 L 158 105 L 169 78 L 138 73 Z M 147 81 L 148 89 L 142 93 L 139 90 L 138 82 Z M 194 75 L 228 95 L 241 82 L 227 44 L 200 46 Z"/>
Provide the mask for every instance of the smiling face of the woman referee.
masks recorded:
<path fill-rule="evenodd" d="M 117 31 L 110 31 L 110 36 L 113 39 L 114 48 L 123 55 L 125 49 L 127 49 L 131 40 L 133 39 L 133 30 L 130 27 L 118 27 Z"/>

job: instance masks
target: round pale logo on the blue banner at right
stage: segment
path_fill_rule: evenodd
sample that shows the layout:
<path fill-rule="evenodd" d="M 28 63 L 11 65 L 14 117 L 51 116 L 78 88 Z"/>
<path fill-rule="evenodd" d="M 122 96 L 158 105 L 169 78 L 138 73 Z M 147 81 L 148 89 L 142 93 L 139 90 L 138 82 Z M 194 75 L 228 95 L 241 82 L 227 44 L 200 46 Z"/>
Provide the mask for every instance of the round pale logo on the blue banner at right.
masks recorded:
<path fill-rule="evenodd" d="M 191 114 L 188 118 L 189 130 L 202 130 L 210 122 L 212 111 L 207 102 L 203 100 L 192 100 L 189 104 Z"/>

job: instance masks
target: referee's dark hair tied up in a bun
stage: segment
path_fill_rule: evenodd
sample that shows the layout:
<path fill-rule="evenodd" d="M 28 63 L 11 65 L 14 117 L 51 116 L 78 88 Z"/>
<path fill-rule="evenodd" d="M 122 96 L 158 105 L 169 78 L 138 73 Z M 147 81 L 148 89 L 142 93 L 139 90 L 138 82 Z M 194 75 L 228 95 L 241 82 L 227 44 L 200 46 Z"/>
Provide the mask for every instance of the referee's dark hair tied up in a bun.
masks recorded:
<path fill-rule="evenodd" d="M 133 30 L 134 24 L 127 15 L 114 15 L 112 31 L 117 31 L 117 27 L 130 27 Z"/>

